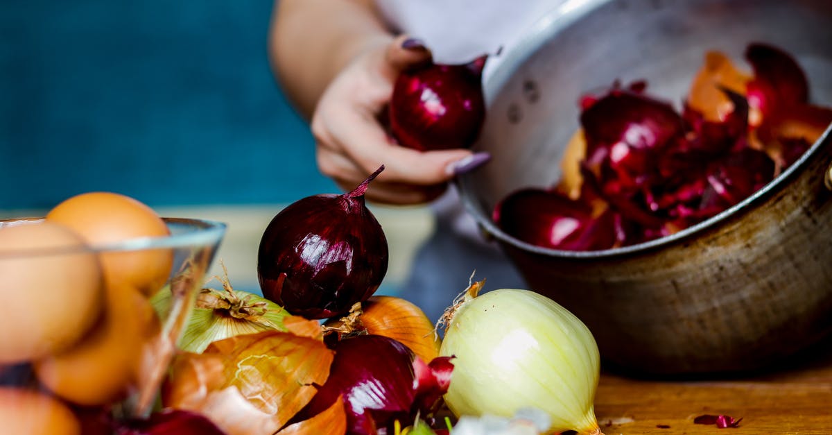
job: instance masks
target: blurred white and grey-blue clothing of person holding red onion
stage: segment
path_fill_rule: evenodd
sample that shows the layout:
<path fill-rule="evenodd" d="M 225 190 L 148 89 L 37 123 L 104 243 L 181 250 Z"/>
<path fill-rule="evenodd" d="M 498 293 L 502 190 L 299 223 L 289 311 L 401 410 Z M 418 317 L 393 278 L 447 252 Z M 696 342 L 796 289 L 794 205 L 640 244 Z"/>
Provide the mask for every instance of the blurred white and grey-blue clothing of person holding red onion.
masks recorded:
<path fill-rule="evenodd" d="M 484 53 L 505 54 L 537 20 L 564 0 L 376 0 L 397 32 L 421 39 L 436 62 L 463 63 Z M 483 80 L 503 56 L 488 58 Z M 486 279 L 485 290 L 523 288 L 524 281 L 495 243 L 478 233 L 453 188 L 432 204 L 437 231 L 419 250 L 400 296 L 437 320 L 468 286 L 468 278 Z"/>

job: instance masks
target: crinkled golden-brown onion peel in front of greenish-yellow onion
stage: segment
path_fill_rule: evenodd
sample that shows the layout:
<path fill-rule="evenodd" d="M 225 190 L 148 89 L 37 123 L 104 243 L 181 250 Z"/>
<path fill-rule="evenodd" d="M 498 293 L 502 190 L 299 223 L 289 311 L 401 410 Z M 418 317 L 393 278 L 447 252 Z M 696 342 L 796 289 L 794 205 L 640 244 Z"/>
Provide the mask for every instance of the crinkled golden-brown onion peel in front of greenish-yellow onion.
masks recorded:
<path fill-rule="evenodd" d="M 333 352 L 320 340 L 266 331 L 184 353 L 163 389 L 167 408 L 210 416 L 226 433 L 275 433 L 329 377 Z"/>

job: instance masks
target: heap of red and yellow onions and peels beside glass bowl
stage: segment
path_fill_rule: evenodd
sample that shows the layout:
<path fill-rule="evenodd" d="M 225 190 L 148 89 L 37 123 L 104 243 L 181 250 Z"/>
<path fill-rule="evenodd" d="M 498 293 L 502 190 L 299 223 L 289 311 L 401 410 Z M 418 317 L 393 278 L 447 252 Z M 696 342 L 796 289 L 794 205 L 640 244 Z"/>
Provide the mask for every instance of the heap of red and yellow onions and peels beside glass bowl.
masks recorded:
<path fill-rule="evenodd" d="M 229 435 L 394 433 L 435 423 L 453 370 L 413 303 L 374 296 L 387 268 L 369 183 L 302 198 L 272 219 L 257 270 L 264 297 L 204 288 L 162 412 L 206 416 Z M 170 290 L 156 295 L 164 312 Z M 320 322 L 324 320 L 324 322 Z M 135 425 L 134 425 L 135 426 Z"/>

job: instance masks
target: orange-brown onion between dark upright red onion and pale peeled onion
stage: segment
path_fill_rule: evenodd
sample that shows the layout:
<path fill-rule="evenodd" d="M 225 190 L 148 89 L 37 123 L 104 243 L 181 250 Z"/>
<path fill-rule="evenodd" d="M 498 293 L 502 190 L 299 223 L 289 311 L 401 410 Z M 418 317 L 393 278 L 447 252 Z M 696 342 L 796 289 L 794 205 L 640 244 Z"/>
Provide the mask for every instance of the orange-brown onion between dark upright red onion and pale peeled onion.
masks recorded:
<path fill-rule="evenodd" d="M 348 316 L 327 322 L 324 329 L 393 338 L 425 363 L 439 356 L 441 342 L 433 323 L 421 308 L 403 298 L 372 296 L 356 304 Z"/>

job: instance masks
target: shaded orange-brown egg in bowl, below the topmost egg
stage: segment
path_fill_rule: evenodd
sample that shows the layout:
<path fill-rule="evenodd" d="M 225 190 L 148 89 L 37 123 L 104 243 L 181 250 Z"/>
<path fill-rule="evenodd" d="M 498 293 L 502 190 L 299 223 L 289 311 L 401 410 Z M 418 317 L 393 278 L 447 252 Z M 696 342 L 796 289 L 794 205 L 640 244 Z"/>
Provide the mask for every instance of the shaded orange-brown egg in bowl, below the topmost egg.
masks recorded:
<path fill-rule="evenodd" d="M 130 287 L 106 290 L 106 313 L 76 347 L 34 364 L 40 382 L 79 405 L 114 403 L 135 382 L 136 364 L 159 320 L 150 301 Z"/>

